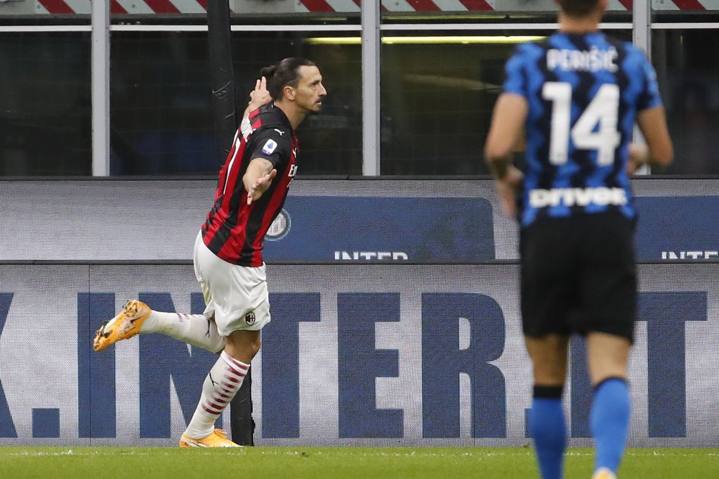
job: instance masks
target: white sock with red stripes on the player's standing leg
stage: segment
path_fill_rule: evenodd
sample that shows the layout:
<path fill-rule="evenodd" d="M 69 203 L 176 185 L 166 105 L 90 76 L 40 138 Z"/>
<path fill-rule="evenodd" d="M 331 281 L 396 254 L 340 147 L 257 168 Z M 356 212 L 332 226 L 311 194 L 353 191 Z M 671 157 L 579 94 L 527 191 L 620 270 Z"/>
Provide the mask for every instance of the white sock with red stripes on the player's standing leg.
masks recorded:
<path fill-rule="evenodd" d="M 185 434 L 202 439 L 215 429 L 215 421 L 242 386 L 249 364 L 244 364 L 221 352 L 202 385 L 202 396 L 188 424 Z"/>

